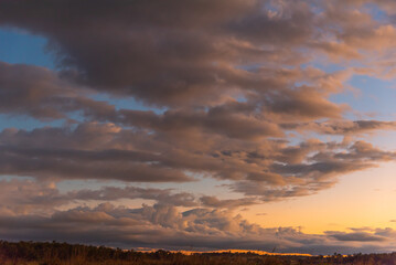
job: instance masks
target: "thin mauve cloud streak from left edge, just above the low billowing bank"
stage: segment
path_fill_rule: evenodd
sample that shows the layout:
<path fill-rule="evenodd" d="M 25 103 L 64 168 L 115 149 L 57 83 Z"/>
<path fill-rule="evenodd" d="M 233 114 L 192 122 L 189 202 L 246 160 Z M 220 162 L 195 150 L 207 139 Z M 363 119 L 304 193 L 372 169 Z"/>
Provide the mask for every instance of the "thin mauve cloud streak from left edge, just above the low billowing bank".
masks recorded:
<path fill-rule="evenodd" d="M 174 192 L 170 189 L 145 189 L 127 186 L 124 188 L 106 186 L 100 189 L 78 189 L 61 192 L 54 182 L 34 180 L 0 180 L 0 213 L 18 216 L 52 214 L 56 209 L 82 203 L 117 202 L 121 199 L 148 200 L 164 205 L 197 206 L 195 195 L 188 192 Z"/>

